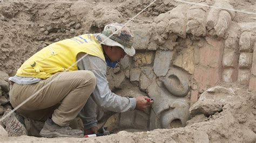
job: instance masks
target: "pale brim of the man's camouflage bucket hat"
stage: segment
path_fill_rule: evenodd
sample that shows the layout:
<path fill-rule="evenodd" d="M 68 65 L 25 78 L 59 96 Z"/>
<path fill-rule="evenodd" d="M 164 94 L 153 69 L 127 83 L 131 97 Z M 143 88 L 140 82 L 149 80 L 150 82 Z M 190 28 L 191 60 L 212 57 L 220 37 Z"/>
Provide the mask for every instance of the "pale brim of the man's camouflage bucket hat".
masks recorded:
<path fill-rule="evenodd" d="M 97 38 L 99 37 L 99 38 Z M 135 55 L 135 49 L 131 46 L 131 48 L 125 47 L 121 44 L 119 44 L 119 42 L 116 42 L 110 38 L 108 38 L 106 35 L 99 33 L 96 36 L 96 39 L 99 40 L 102 44 L 107 45 L 107 46 L 118 46 L 122 49 L 124 49 L 124 52 L 129 55 L 129 56 L 133 56 Z"/>

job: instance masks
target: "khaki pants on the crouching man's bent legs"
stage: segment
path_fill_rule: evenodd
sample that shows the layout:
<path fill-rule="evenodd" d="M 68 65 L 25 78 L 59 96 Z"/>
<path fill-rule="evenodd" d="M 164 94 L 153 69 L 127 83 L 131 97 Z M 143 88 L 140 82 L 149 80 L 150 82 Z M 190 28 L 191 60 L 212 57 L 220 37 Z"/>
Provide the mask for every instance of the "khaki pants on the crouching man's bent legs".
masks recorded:
<path fill-rule="evenodd" d="M 46 84 L 49 85 L 42 89 Z M 17 112 L 37 121 L 45 121 L 52 117 L 56 124 L 65 126 L 77 117 L 95 89 L 95 85 L 96 77 L 91 71 L 56 73 L 38 83 L 26 85 L 15 83 L 10 91 L 10 102 L 15 108 L 40 90 Z"/>

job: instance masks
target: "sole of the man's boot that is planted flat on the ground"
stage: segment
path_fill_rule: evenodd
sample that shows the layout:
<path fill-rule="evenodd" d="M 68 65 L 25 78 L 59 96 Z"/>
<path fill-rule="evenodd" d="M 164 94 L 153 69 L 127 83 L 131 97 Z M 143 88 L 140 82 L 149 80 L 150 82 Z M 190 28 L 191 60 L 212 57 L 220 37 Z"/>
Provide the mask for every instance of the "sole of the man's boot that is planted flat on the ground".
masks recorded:
<path fill-rule="evenodd" d="M 48 130 L 42 129 L 40 135 L 44 138 L 58 138 L 58 137 L 70 137 L 70 138 L 83 138 L 83 135 L 67 135 L 58 132 L 50 132 Z"/>

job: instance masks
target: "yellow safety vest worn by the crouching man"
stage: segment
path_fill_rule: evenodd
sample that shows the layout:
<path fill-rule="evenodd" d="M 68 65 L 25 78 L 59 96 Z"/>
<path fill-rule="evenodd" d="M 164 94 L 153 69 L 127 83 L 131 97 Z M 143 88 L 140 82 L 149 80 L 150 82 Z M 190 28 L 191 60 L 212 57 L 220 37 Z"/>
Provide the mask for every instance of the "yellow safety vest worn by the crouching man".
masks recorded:
<path fill-rule="evenodd" d="M 77 54 L 81 52 L 97 56 L 105 61 L 100 43 L 93 34 L 84 34 L 55 42 L 41 49 L 23 63 L 16 75 L 46 79 L 65 70 L 78 70 L 77 64 L 73 65 L 73 63 L 76 62 Z"/>

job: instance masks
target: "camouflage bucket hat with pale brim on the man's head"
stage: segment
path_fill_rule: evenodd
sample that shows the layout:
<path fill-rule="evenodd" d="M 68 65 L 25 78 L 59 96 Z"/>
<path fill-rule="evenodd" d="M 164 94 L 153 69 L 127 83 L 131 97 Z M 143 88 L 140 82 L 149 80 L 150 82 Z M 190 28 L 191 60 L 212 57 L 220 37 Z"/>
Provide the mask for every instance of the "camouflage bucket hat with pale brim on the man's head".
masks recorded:
<path fill-rule="evenodd" d="M 106 25 L 102 33 L 99 33 L 96 36 L 96 39 L 102 42 L 102 44 L 107 46 L 118 46 L 124 49 L 124 52 L 129 56 L 135 54 L 135 49 L 132 47 L 133 38 L 134 35 L 132 31 L 119 23 Z"/>

